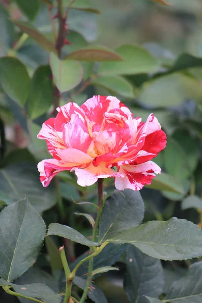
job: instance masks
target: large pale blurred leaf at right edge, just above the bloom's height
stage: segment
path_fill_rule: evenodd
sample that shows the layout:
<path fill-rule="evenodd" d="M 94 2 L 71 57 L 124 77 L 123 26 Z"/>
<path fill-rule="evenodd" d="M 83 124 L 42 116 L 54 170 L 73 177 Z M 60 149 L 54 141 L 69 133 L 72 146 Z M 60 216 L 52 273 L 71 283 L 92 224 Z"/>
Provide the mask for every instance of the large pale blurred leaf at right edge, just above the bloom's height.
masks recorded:
<path fill-rule="evenodd" d="M 145 82 L 138 96 L 145 106 L 176 107 L 185 99 L 200 102 L 202 87 L 199 82 L 181 73 L 172 73 Z M 163 98 L 162 98 L 163 96 Z"/>

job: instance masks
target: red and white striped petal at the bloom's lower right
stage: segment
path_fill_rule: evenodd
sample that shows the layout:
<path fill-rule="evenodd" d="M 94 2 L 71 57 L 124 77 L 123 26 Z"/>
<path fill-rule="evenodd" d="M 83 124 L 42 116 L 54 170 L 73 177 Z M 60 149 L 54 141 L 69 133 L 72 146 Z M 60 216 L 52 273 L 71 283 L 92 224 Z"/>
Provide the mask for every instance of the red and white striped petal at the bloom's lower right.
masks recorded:
<path fill-rule="evenodd" d="M 151 179 L 156 177 L 155 173 L 161 173 L 161 168 L 156 163 L 148 161 L 138 165 L 120 166 L 119 172 L 124 175 L 124 178 L 116 177 L 117 189 L 140 190 L 145 184 L 151 184 Z"/>

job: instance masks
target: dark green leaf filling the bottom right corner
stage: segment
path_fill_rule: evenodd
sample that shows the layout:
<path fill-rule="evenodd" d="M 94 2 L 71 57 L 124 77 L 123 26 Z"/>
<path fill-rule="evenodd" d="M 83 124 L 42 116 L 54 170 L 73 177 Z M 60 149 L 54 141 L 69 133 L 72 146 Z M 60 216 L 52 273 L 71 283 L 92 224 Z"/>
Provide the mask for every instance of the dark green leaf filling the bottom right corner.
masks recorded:
<path fill-rule="evenodd" d="M 173 282 L 164 298 L 165 302 L 198 303 L 202 298 L 202 262 L 189 266 L 188 272 Z"/>

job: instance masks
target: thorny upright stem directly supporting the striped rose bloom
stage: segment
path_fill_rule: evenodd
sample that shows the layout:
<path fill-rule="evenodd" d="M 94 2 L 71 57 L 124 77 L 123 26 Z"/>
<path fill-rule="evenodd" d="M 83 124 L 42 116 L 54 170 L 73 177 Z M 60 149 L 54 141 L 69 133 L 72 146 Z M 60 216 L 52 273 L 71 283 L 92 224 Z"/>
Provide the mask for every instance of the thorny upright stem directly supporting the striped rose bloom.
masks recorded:
<path fill-rule="evenodd" d="M 102 215 L 103 207 L 104 207 L 104 201 L 103 201 L 103 178 L 100 178 L 97 180 L 97 193 L 98 193 L 98 213 L 97 213 L 97 218 L 95 221 L 95 225 L 93 227 L 93 233 L 92 233 L 92 241 L 94 242 L 96 240 L 96 233 L 97 233 L 97 227 L 99 225 L 99 220 Z M 103 245 L 106 245 L 107 243 L 103 243 Z M 99 248 L 101 248 L 103 245 L 101 245 Z M 104 247 L 102 247 L 103 249 Z M 90 248 L 91 252 L 93 251 L 93 247 Z M 87 282 L 85 285 L 85 289 L 83 291 L 82 297 L 80 299 L 80 303 L 84 303 L 86 295 L 89 291 L 91 279 L 92 279 L 92 269 L 93 269 L 93 258 L 92 255 L 90 256 L 91 258 L 89 259 L 88 263 L 88 278 Z"/>

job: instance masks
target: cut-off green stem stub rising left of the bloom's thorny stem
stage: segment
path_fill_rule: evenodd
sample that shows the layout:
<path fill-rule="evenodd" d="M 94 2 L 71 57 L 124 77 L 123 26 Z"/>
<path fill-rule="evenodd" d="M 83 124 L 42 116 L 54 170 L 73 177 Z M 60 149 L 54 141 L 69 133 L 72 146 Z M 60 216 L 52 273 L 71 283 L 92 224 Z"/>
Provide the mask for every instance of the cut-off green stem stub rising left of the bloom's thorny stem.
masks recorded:
<path fill-rule="evenodd" d="M 68 303 L 69 301 L 69 298 L 71 296 L 71 290 L 72 290 L 72 279 L 70 279 L 70 274 L 71 274 L 71 271 L 69 269 L 69 265 L 67 263 L 67 259 L 66 259 L 66 255 L 65 255 L 65 247 L 62 246 L 60 247 L 59 249 L 60 251 L 60 255 L 61 255 L 61 260 L 62 260 L 62 263 L 63 263 L 63 267 L 64 267 L 64 270 L 65 270 L 65 277 L 66 277 L 66 289 L 65 289 L 65 298 L 64 298 L 64 301 L 63 303 Z"/>

